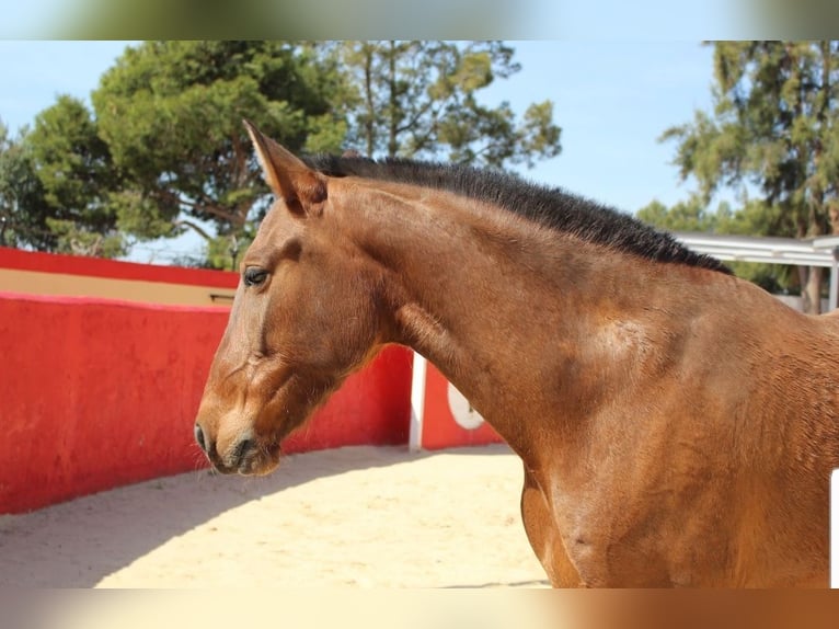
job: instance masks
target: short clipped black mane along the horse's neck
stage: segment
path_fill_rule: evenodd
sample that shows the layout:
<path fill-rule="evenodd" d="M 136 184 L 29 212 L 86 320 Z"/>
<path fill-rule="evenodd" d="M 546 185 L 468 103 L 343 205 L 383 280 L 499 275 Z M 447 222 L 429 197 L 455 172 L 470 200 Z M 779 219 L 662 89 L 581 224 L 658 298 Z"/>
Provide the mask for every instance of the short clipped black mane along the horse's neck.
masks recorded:
<path fill-rule="evenodd" d="M 715 258 L 691 251 L 660 232 L 613 208 L 496 170 L 404 159 L 375 161 L 360 157 L 313 156 L 310 168 L 330 176 L 365 179 L 446 190 L 479 198 L 540 225 L 657 262 L 676 262 L 731 274 Z"/>

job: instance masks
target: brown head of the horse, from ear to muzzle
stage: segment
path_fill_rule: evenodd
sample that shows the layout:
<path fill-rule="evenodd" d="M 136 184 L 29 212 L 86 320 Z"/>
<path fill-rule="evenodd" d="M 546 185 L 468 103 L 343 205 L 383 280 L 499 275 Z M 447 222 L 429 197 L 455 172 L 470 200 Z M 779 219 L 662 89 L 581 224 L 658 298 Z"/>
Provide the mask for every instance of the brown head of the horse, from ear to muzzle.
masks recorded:
<path fill-rule="evenodd" d="M 276 202 L 242 261 L 195 436 L 219 471 L 267 473 L 280 441 L 380 347 L 381 271 L 343 238 L 331 180 L 248 129 Z"/>

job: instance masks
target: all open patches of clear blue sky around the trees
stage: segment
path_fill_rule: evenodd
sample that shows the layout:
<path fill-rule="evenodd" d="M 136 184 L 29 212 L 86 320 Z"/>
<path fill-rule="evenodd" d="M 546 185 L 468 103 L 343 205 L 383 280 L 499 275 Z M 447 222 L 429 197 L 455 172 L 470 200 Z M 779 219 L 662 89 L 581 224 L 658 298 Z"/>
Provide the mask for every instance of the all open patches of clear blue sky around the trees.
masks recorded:
<path fill-rule="evenodd" d="M 101 75 L 130 43 L 0 41 L 0 119 L 12 135 L 55 103 L 59 94 L 90 102 Z M 674 142 L 658 138 L 670 126 L 711 108 L 712 48 L 699 41 L 509 42 L 521 71 L 484 92 L 487 104 L 508 101 L 515 112 L 551 100 L 562 127 L 562 152 L 524 176 L 635 213 L 651 201 L 686 199 L 670 162 Z M 165 263 L 195 253 L 194 238 L 136 248 L 131 259 Z"/>

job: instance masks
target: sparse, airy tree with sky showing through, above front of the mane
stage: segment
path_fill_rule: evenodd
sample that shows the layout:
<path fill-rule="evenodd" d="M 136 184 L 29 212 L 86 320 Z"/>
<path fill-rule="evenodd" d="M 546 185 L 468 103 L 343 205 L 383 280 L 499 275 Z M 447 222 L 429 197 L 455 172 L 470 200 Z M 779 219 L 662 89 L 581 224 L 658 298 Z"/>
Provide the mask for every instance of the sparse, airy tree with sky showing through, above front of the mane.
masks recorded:
<path fill-rule="evenodd" d="M 560 153 L 550 101 L 517 122 L 508 103 L 489 107 L 479 93 L 520 67 L 502 42 L 347 42 L 333 54 L 352 73 L 345 98 L 349 145 L 368 157 L 437 158 L 502 167 Z"/>

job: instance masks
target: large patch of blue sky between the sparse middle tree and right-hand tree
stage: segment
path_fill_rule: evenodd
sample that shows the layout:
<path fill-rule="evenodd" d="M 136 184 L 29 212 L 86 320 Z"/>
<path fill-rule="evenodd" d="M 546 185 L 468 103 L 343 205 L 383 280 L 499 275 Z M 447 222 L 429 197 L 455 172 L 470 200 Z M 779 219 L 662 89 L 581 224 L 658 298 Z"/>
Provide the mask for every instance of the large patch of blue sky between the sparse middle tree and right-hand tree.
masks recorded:
<path fill-rule="evenodd" d="M 687 198 L 670 164 L 675 145 L 657 141 L 711 107 L 712 49 L 698 42 L 520 42 L 522 70 L 498 83 L 515 111 L 550 99 L 562 153 L 522 173 L 636 211 L 653 198 Z"/>

